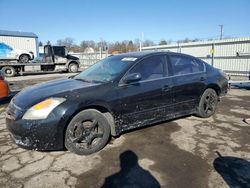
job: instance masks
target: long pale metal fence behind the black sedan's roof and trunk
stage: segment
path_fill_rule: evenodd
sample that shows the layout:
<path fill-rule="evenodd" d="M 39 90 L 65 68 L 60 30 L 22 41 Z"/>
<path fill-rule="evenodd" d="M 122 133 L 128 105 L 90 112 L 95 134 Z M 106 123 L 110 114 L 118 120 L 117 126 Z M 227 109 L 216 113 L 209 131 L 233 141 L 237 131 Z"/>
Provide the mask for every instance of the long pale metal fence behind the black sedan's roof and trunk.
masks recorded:
<path fill-rule="evenodd" d="M 250 76 L 250 37 L 143 47 L 198 57 L 230 75 Z"/>

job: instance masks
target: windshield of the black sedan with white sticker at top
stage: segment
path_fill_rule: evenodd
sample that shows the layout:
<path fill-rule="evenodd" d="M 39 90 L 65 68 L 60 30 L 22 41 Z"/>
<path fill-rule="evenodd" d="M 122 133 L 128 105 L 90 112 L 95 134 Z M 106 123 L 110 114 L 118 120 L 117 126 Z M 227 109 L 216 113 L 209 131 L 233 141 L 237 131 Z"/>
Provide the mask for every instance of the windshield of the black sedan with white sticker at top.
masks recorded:
<path fill-rule="evenodd" d="M 76 75 L 74 79 L 86 82 L 109 82 L 114 80 L 132 61 L 135 61 L 135 59 L 136 58 L 110 56 Z"/>

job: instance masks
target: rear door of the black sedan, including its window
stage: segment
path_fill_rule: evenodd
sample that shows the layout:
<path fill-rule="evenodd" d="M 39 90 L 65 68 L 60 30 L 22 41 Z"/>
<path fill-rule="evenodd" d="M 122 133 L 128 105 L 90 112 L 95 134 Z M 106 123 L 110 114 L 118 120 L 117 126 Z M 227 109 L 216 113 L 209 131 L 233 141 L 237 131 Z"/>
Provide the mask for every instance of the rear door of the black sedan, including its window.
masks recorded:
<path fill-rule="evenodd" d="M 206 84 L 205 65 L 185 55 L 169 56 L 173 72 L 173 101 L 177 114 L 193 112 Z"/>

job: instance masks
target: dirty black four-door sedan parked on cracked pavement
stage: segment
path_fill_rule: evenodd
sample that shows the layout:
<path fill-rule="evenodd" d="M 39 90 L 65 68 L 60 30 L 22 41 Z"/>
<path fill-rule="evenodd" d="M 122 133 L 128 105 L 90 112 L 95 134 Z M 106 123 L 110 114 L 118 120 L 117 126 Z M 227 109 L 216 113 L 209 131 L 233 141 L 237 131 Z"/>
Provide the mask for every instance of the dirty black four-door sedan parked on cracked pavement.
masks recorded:
<path fill-rule="evenodd" d="M 130 129 L 190 114 L 210 117 L 226 93 L 225 74 L 198 58 L 126 53 L 21 91 L 6 123 L 19 146 L 86 155 Z"/>

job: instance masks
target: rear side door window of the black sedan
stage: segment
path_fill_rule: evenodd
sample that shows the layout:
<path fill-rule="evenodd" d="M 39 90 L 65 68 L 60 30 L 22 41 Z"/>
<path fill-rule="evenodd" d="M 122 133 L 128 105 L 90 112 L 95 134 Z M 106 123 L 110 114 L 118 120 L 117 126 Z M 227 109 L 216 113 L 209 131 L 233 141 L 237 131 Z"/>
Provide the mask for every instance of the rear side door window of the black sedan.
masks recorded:
<path fill-rule="evenodd" d="M 204 64 L 191 57 L 170 56 L 174 75 L 184 75 L 204 71 Z"/>

